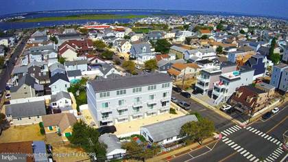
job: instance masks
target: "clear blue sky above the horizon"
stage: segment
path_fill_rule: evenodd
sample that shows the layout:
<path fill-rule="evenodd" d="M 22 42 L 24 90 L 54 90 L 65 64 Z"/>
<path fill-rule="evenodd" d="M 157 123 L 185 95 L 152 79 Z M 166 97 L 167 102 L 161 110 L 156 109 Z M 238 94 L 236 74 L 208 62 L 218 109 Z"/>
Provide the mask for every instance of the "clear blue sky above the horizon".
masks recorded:
<path fill-rule="evenodd" d="M 240 12 L 288 18 L 288 0 L 0 0 L 0 14 L 72 9 L 165 9 Z"/>

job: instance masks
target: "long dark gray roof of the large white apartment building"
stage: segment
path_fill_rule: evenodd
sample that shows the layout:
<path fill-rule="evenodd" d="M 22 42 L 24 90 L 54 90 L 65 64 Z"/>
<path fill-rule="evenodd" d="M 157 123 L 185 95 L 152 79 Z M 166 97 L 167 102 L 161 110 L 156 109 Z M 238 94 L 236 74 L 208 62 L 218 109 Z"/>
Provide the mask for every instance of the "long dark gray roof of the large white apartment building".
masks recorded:
<path fill-rule="evenodd" d="M 150 73 L 146 75 L 128 76 L 121 78 L 107 78 L 88 82 L 93 86 L 96 93 L 101 91 L 112 91 L 117 89 L 127 89 L 136 86 L 147 86 L 171 82 L 172 79 L 167 73 Z"/>

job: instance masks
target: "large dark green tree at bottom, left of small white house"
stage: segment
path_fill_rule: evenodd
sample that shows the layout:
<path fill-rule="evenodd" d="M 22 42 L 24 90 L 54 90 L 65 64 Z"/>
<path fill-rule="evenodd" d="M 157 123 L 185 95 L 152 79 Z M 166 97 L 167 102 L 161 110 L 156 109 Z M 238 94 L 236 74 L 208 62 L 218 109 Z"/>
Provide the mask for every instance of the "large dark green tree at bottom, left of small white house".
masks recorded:
<path fill-rule="evenodd" d="M 97 129 L 88 126 L 80 120 L 80 122 L 76 122 L 73 125 L 72 135 L 68 139 L 70 143 L 75 146 L 81 146 L 86 152 L 95 153 L 97 161 L 105 161 L 106 146 L 99 143 L 99 136 L 100 134 Z"/>

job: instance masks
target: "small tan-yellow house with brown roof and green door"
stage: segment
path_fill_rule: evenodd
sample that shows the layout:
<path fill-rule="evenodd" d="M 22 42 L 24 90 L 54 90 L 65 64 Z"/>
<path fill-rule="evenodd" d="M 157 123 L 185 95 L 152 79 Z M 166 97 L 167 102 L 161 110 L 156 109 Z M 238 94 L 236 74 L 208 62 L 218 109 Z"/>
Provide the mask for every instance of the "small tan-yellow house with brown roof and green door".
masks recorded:
<path fill-rule="evenodd" d="M 72 127 L 77 122 L 76 117 L 71 113 L 58 113 L 42 117 L 45 132 L 60 133 L 63 141 L 72 135 Z"/>

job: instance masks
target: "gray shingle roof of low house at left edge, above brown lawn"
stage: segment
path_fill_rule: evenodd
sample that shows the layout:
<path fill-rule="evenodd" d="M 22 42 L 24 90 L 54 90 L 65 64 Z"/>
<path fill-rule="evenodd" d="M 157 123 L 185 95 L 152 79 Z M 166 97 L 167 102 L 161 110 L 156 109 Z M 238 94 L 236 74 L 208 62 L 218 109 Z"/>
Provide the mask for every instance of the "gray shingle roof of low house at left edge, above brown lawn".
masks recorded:
<path fill-rule="evenodd" d="M 46 115 L 44 101 L 9 104 L 5 109 L 6 115 L 12 115 L 13 118 Z"/>

